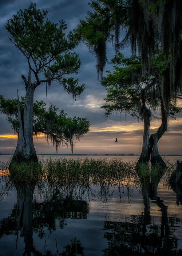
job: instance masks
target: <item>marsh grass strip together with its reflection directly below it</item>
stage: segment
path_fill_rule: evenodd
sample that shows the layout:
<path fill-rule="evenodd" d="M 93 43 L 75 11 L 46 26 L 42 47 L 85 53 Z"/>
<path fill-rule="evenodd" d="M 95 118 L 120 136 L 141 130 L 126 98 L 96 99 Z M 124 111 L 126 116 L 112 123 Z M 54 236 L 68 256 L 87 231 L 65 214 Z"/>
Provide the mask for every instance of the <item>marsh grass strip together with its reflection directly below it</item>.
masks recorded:
<path fill-rule="evenodd" d="M 15 184 L 36 182 L 37 192 L 44 199 L 68 195 L 80 200 L 107 202 L 116 189 L 120 200 L 126 197 L 130 202 L 132 192 L 147 184 L 158 184 L 160 180 L 170 187 L 169 177 L 176 164 L 167 162 L 166 170 L 141 165 L 135 170 L 136 162 L 123 162 L 121 159 L 47 159 L 39 163 L 15 164 L 16 173 L 8 171 L 8 164 L 1 163 L 0 197 L 10 193 Z M 161 178 L 162 177 L 162 178 Z"/>

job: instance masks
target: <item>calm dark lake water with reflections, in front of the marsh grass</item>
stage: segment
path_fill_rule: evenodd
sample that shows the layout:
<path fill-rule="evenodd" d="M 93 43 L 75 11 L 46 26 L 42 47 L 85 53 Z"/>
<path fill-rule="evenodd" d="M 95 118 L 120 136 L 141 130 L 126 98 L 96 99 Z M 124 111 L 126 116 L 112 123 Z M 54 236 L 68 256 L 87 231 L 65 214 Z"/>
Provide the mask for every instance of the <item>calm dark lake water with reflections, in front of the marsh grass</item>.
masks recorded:
<path fill-rule="evenodd" d="M 177 193 L 176 193 L 177 192 Z M 0 182 L 0 256 L 182 255 L 182 192 L 166 179 Z"/>

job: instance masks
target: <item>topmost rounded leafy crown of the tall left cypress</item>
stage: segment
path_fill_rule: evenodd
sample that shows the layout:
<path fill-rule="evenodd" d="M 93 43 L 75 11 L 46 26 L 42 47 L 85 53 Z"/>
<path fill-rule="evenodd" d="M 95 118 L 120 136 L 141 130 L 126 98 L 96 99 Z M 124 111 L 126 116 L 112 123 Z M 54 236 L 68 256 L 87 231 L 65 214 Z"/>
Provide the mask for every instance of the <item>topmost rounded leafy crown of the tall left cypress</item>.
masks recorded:
<path fill-rule="evenodd" d="M 65 36 L 67 25 L 62 20 L 58 26 L 48 20 L 48 12 L 37 10 L 32 3 L 28 9 L 17 11 L 6 25 L 10 40 L 29 59 L 33 57 L 41 69 L 48 60 L 55 59 L 65 50 L 72 50 L 77 41 L 73 33 Z"/>

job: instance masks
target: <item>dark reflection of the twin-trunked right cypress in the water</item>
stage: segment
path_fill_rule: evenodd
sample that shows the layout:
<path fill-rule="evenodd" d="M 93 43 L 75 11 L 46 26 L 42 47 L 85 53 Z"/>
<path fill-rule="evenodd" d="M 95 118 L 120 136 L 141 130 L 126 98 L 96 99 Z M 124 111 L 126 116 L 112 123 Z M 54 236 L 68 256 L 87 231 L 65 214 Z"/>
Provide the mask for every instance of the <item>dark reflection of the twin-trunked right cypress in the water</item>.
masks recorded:
<path fill-rule="evenodd" d="M 162 177 L 162 175 L 161 175 Z M 104 238 L 108 240 L 108 248 L 104 256 L 114 255 L 182 255 L 175 236 L 177 219 L 169 217 L 167 206 L 158 196 L 158 183 L 161 177 L 151 180 L 141 178 L 144 212 L 142 215 L 130 216 L 125 222 L 104 223 Z M 161 225 L 155 224 L 150 215 L 150 200 L 153 200 L 162 212 Z"/>

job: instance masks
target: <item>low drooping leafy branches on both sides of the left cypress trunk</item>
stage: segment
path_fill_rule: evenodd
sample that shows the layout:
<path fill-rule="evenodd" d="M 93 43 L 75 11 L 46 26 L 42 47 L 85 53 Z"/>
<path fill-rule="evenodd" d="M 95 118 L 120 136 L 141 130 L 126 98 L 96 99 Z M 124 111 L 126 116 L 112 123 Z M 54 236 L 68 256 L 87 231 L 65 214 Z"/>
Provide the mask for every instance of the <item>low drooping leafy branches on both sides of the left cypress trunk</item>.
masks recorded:
<path fill-rule="evenodd" d="M 24 110 L 24 97 L 19 102 L 21 113 Z M 15 133 L 19 133 L 19 122 L 17 118 L 17 99 L 5 100 L 0 96 L 0 111 L 5 113 L 11 123 Z M 37 136 L 44 133 L 47 140 L 51 139 L 56 146 L 56 150 L 61 144 L 71 145 L 73 150 L 73 140 L 79 140 L 88 132 L 90 123 L 87 118 L 67 117 L 63 110 L 59 111 L 54 105 L 46 109 L 46 103 L 36 101 L 33 103 L 33 132 Z"/>

